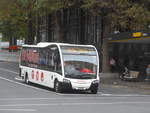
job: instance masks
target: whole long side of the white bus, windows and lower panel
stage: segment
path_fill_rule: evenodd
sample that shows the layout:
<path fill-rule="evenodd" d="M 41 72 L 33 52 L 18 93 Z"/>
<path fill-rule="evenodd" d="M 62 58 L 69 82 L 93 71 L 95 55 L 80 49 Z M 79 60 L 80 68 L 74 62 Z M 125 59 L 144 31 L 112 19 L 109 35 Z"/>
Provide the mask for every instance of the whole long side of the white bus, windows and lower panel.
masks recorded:
<path fill-rule="evenodd" d="M 23 47 L 20 55 L 21 76 L 29 81 L 54 88 L 54 81 L 62 81 L 60 53 L 56 45 L 45 48 Z"/>

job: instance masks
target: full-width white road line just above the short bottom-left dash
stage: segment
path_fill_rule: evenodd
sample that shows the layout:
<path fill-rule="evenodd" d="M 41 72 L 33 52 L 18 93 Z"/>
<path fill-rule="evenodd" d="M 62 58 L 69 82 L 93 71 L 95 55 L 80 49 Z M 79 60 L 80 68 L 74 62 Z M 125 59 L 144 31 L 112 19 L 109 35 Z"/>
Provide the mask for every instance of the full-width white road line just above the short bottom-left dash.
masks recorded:
<path fill-rule="evenodd" d="M 81 106 L 81 105 L 120 105 L 120 104 L 150 104 L 150 102 L 96 102 L 96 103 L 49 103 L 49 104 L 1 104 L 0 107 L 24 106 Z"/>

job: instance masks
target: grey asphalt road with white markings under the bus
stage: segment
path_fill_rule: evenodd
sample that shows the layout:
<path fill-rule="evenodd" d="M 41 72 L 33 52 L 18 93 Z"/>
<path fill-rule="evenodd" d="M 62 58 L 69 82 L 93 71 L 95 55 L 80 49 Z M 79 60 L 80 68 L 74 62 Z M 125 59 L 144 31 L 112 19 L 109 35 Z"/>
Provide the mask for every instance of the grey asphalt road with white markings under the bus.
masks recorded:
<path fill-rule="evenodd" d="M 150 113 L 150 96 L 100 87 L 98 94 L 55 93 L 17 79 L 18 64 L 0 62 L 0 113 Z"/>

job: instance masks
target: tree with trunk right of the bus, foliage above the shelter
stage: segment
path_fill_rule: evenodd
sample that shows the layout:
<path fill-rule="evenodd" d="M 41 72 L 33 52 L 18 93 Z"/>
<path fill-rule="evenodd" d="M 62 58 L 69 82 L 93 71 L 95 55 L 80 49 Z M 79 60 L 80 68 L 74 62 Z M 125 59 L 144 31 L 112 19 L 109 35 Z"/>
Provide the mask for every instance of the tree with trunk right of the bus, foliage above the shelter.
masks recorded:
<path fill-rule="evenodd" d="M 144 30 L 150 23 L 150 0 L 84 0 L 83 8 L 102 16 L 103 71 L 108 71 L 108 33 Z"/>

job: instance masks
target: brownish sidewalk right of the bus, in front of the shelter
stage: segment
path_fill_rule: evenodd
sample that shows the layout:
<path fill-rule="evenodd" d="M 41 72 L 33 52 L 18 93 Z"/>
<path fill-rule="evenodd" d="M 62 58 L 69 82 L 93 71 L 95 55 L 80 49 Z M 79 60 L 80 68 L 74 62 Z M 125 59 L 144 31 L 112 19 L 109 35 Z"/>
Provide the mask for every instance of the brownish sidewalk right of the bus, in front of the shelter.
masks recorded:
<path fill-rule="evenodd" d="M 100 73 L 100 78 L 101 84 L 103 85 L 118 88 L 133 88 L 145 91 L 145 94 L 150 94 L 150 82 L 122 81 L 119 79 L 118 73 Z"/>

